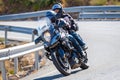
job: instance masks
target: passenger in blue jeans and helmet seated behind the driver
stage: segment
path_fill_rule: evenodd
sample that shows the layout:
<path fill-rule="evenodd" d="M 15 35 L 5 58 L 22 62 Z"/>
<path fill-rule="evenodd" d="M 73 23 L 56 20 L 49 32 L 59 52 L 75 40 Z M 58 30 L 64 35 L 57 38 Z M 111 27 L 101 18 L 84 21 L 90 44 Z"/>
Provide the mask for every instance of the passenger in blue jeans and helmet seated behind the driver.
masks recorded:
<path fill-rule="evenodd" d="M 71 25 L 71 28 L 68 29 L 69 33 L 77 40 L 82 49 L 86 50 L 88 47 L 86 46 L 85 42 L 83 42 L 81 36 L 76 33 L 76 31 L 78 31 L 78 26 L 75 23 L 74 19 L 69 14 L 64 13 L 62 5 L 60 3 L 54 4 L 52 6 L 52 10 L 57 13 L 56 14 L 57 19 L 64 18 L 67 22 L 69 22 L 69 24 Z M 82 53 L 81 56 L 84 57 Z"/>

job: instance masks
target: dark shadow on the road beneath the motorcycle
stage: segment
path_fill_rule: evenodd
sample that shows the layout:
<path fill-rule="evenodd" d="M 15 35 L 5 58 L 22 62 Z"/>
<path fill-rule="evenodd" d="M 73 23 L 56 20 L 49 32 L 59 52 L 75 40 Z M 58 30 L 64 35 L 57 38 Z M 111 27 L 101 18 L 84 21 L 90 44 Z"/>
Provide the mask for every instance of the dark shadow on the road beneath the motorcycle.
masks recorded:
<path fill-rule="evenodd" d="M 72 71 L 71 74 L 77 73 L 79 71 L 82 71 L 82 70 Z M 53 80 L 53 79 L 62 78 L 62 77 L 65 77 L 65 76 L 62 75 L 62 74 L 55 74 L 55 75 L 52 75 L 52 76 L 37 78 L 37 79 L 34 79 L 34 80 Z"/>

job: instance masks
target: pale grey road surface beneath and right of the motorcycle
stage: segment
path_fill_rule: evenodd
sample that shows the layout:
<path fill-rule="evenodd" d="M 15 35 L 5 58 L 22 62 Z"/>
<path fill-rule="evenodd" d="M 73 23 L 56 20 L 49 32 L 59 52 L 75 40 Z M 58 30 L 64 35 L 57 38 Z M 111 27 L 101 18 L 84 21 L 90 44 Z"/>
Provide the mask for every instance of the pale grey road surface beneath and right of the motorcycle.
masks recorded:
<path fill-rule="evenodd" d="M 61 75 L 52 62 L 21 80 L 120 80 L 120 22 L 78 22 L 78 33 L 88 45 L 89 69 Z"/>

